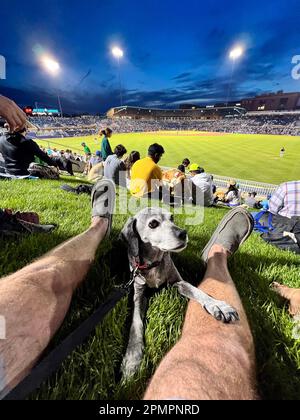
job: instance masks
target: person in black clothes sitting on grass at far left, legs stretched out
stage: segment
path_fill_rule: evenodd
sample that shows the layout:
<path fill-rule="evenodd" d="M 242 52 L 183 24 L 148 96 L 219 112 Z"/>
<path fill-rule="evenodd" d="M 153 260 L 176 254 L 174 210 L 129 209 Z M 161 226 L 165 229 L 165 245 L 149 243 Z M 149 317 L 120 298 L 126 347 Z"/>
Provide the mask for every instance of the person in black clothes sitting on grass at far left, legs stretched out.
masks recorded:
<path fill-rule="evenodd" d="M 26 127 L 15 133 L 4 134 L 0 137 L 0 153 L 5 163 L 5 172 L 13 176 L 29 175 L 30 164 L 39 158 L 49 166 L 58 167 L 73 175 L 72 163 L 59 157 L 50 157 L 31 139 L 27 139 Z"/>

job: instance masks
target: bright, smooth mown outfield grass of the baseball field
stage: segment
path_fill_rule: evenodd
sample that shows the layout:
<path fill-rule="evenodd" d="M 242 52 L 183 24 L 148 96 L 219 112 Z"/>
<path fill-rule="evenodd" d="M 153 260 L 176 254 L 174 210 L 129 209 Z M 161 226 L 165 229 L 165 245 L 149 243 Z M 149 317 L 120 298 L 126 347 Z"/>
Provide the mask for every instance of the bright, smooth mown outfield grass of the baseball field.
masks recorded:
<path fill-rule="evenodd" d="M 59 143 L 61 146 L 56 146 L 57 148 L 76 147 L 82 150 L 82 141 L 82 138 L 56 139 L 51 140 L 50 144 Z M 93 151 L 99 149 L 99 138 L 95 141 L 95 136 L 91 136 L 84 138 L 84 141 Z M 166 153 L 161 161 L 164 166 L 177 167 L 183 158 L 188 157 L 206 171 L 217 175 L 272 184 L 299 179 L 299 136 L 166 132 L 115 134 L 111 139 L 113 147 L 121 143 L 128 152 L 138 150 L 142 156 L 153 142 L 158 142 L 165 148 Z M 280 159 L 282 146 L 285 147 L 286 154 Z"/>

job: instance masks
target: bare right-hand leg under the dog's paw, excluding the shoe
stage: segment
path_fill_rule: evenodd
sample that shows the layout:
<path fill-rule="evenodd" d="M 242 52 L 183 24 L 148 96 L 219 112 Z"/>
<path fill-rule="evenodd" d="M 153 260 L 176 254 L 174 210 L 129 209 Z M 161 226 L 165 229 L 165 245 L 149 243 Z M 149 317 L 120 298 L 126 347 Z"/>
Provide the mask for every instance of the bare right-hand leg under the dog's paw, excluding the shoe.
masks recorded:
<path fill-rule="evenodd" d="M 201 290 L 232 305 L 240 321 L 218 322 L 191 301 L 182 337 L 158 367 L 145 399 L 256 398 L 253 339 L 227 258 L 220 245 L 211 248 Z"/>

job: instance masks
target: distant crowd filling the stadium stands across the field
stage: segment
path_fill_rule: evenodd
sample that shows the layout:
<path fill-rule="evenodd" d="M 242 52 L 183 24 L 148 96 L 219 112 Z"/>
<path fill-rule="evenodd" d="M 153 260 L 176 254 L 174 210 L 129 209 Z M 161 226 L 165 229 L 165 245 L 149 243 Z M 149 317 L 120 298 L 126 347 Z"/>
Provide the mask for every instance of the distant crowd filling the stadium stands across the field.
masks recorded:
<path fill-rule="evenodd" d="M 204 119 L 108 119 L 97 116 L 60 118 L 31 117 L 30 122 L 37 128 L 32 136 L 37 137 L 77 137 L 94 135 L 103 127 L 111 127 L 115 133 L 152 132 L 160 130 L 207 131 L 241 134 L 300 135 L 300 114 L 247 114 L 218 120 Z"/>

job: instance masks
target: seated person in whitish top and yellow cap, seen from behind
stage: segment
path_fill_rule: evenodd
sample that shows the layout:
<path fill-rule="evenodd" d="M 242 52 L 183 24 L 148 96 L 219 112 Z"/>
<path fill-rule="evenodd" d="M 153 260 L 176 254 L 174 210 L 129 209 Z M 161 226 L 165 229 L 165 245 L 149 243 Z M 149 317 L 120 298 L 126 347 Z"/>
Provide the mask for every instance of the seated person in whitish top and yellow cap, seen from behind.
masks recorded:
<path fill-rule="evenodd" d="M 194 204 L 209 207 L 214 202 L 212 176 L 205 173 L 197 163 L 190 167 L 192 200 Z"/>

